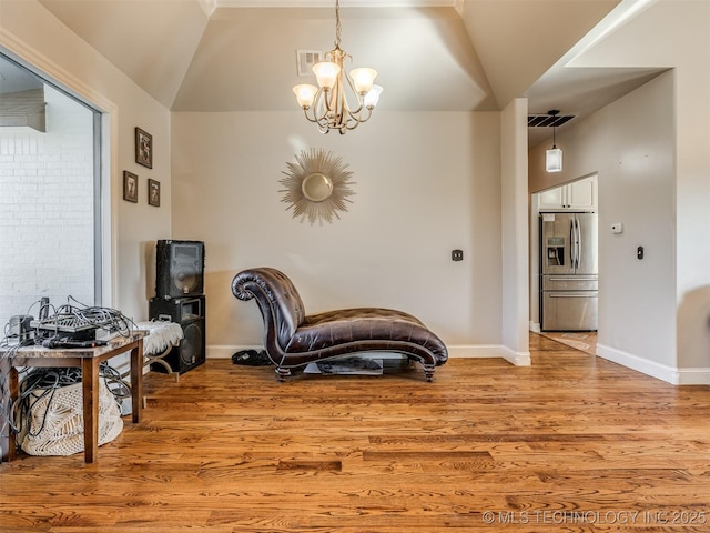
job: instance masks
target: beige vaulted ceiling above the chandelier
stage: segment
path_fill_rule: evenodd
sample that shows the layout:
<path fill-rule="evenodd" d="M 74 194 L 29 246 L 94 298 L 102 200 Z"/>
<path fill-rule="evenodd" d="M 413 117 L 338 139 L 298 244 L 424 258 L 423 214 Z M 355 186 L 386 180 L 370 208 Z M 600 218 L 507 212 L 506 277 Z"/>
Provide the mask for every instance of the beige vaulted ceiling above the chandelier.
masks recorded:
<path fill-rule="evenodd" d="M 296 51 L 325 52 L 335 39 L 334 0 L 39 1 L 174 111 L 297 109 L 291 88 L 308 81 Z M 532 113 L 582 117 L 658 73 L 564 67 L 633 3 L 342 0 L 341 47 L 353 67 L 378 71 L 378 109 L 499 110 L 525 95 Z"/>

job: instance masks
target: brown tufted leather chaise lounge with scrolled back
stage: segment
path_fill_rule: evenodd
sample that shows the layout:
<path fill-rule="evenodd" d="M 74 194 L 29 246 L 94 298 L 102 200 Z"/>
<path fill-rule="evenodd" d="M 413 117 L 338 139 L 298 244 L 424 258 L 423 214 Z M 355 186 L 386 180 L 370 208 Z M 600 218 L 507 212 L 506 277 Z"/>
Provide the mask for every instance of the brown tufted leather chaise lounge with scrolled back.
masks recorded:
<path fill-rule="evenodd" d="M 442 340 L 418 319 L 402 311 L 359 308 L 306 315 L 292 281 L 270 268 L 244 270 L 234 276 L 232 293 L 255 299 L 264 319 L 264 349 L 280 381 L 292 369 L 357 352 L 396 352 L 424 368 L 432 381 L 448 358 Z"/>

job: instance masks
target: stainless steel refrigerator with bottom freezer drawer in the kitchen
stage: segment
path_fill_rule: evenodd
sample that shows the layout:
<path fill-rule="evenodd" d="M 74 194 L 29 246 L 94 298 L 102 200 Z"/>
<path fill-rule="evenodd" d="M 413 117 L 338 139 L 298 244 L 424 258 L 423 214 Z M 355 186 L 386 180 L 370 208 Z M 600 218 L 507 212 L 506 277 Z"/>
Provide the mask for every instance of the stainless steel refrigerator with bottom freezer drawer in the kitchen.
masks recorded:
<path fill-rule="evenodd" d="M 598 217 L 540 213 L 540 329 L 596 331 Z"/>

